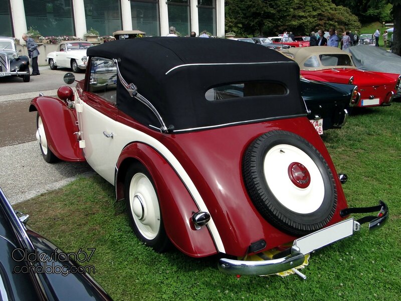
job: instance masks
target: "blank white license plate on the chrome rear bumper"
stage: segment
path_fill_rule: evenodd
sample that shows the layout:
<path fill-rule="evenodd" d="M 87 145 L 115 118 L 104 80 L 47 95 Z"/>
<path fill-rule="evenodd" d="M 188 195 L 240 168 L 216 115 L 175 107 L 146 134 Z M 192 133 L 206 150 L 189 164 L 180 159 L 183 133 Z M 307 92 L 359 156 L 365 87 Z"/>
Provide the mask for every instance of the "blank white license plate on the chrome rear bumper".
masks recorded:
<path fill-rule="evenodd" d="M 298 238 L 294 240 L 294 245 L 300 249 L 302 254 L 306 255 L 335 241 L 351 236 L 353 233 L 354 219 L 350 218 Z"/>

